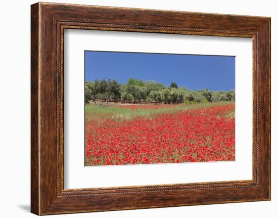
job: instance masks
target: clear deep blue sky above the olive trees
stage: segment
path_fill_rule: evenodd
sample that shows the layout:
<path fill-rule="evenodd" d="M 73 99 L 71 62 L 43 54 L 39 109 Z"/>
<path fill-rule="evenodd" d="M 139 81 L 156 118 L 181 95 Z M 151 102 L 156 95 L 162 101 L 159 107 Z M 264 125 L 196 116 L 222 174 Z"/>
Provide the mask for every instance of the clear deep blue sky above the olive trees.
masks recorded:
<path fill-rule="evenodd" d="M 211 91 L 235 89 L 235 57 L 85 51 L 85 81 L 130 78 Z"/>

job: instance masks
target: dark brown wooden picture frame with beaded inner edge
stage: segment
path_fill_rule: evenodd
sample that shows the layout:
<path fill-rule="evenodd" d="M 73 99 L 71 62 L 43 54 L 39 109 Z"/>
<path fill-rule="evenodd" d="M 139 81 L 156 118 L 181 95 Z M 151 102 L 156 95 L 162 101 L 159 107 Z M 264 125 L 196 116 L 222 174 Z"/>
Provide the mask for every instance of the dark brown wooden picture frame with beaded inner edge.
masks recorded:
<path fill-rule="evenodd" d="M 64 189 L 63 33 L 93 29 L 253 39 L 253 180 Z M 270 18 L 37 3 L 31 6 L 31 212 L 37 215 L 270 200 Z"/>

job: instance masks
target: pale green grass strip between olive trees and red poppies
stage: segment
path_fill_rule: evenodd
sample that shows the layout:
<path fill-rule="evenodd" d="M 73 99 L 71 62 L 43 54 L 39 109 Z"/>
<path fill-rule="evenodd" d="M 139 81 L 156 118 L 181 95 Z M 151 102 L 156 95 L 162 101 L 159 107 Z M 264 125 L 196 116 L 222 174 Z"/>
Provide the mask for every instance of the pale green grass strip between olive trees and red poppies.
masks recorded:
<path fill-rule="evenodd" d="M 98 115 L 109 115 L 111 118 L 125 118 L 132 119 L 136 116 L 150 117 L 151 115 L 175 113 L 182 110 L 208 108 L 211 106 L 226 105 L 234 102 L 212 102 L 212 103 L 198 103 L 192 105 L 178 104 L 173 107 L 161 107 L 159 109 L 136 109 L 132 110 L 124 107 L 114 107 L 113 105 L 102 106 L 102 105 L 86 105 L 85 106 L 85 117 L 87 119 L 97 117 Z"/>

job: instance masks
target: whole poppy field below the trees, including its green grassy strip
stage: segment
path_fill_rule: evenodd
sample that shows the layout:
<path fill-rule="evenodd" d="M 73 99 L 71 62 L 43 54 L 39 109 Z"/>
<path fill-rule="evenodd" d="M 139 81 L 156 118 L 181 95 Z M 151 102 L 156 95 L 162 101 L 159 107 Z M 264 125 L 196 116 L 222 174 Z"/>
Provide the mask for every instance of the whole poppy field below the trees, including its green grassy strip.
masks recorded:
<path fill-rule="evenodd" d="M 235 104 L 86 105 L 85 165 L 235 160 Z"/>

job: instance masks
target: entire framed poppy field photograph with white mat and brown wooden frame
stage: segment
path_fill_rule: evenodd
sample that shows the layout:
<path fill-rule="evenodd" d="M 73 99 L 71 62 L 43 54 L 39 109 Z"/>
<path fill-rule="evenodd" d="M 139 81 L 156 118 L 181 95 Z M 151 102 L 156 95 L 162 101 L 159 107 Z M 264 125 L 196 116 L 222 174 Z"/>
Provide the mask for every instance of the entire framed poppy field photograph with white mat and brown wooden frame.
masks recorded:
<path fill-rule="evenodd" d="M 31 6 L 31 212 L 270 200 L 270 18 Z"/>

